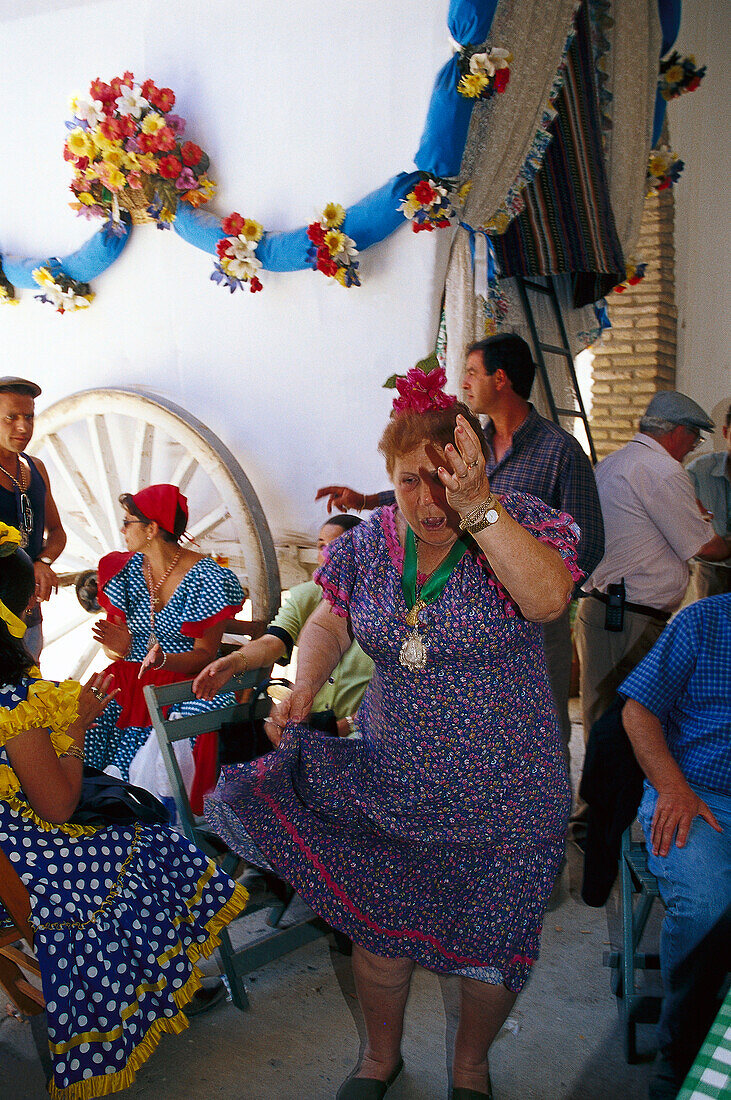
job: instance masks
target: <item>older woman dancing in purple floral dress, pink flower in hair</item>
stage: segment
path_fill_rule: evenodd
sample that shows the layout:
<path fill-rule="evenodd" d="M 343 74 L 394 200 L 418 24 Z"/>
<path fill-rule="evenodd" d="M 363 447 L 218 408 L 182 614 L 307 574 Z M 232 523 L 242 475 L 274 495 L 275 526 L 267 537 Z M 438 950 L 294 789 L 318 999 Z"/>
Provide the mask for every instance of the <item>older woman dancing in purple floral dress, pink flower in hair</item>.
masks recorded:
<path fill-rule="evenodd" d="M 380 441 L 397 504 L 328 548 L 325 600 L 273 717 L 277 752 L 225 769 L 213 827 L 354 942 L 367 1044 L 339 1100 L 402 1067 L 414 963 L 461 978 L 454 1100 L 490 1096 L 488 1049 L 535 961 L 569 787 L 539 623 L 577 578 L 578 529 L 490 492 L 479 425 L 411 371 Z M 299 723 L 351 632 L 375 673 L 363 740 Z"/>

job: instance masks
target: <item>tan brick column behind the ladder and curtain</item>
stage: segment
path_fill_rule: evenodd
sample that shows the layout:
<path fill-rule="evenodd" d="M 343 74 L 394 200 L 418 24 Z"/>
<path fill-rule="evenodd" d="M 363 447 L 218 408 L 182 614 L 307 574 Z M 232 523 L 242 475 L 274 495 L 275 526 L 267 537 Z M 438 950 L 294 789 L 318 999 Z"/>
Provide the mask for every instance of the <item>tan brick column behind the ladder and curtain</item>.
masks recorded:
<path fill-rule="evenodd" d="M 672 190 L 647 197 L 636 255 L 645 277 L 608 296 L 612 327 L 594 348 L 591 435 L 597 457 L 631 439 L 650 398 L 675 387 L 675 248 Z"/>

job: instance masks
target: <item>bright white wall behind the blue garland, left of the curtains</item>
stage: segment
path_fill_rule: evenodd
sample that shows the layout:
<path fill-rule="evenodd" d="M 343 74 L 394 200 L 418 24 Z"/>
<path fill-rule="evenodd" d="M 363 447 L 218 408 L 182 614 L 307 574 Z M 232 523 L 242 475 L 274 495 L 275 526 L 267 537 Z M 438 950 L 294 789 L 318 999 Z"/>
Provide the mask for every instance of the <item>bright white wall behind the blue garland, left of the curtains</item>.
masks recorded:
<path fill-rule="evenodd" d="M 220 216 L 291 229 L 329 200 L 347 206 L 413 168 L 450 56 L 447 7 L 2 0 L 0 251 L 63 255 L 97 229 L 67 206 L 68 97 L 128 68 L 175 90 L 187 136 L 211 157 Z M 359 289 L 308 271 L 229 295 L 209 279 L 212 257 L 144 227 L 89 310 L 60 316 L 30 290 L 0 309 L 0 374 L 36 378 L 41 408 L 96 386 L 165 395 L 236 454 L 275 537 L 311 535 L 317 486 L 385 483 L 380 385 L 433 346 L 448 235 L 405 226 L 364 254 Z"/>

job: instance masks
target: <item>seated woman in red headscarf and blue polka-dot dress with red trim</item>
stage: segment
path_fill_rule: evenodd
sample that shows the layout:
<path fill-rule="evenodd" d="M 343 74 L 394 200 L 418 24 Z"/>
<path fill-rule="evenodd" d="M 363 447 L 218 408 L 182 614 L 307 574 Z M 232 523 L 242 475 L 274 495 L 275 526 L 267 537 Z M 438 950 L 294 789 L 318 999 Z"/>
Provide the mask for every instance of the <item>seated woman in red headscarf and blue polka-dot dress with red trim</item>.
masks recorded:
<path fill-rule="evenodd" d="M 231 570 L 180 546 L 188 502 L 175 485 L 125 493 L 120 503 L 128 552 L 107 554 L 99 562 L 99 602 L 107 618 L 93 626 L 95 638 L 114 658 L 108 672 L 120 693 L 89 730 L 86 759 L 126 780 L 152 734 L 144 685 L 188 680 L 212 661 L 223 623 L 241 610 L 244 592 Z M 182 704 L 179 712 L 212 706 L 200 700 Z M 146 759 L 147 754 L 141 754 L 135 761 L 133 782 L 164 795 L 166 780 L 162 767 L 156 774 L 154 754 L 141 773 Z"/>

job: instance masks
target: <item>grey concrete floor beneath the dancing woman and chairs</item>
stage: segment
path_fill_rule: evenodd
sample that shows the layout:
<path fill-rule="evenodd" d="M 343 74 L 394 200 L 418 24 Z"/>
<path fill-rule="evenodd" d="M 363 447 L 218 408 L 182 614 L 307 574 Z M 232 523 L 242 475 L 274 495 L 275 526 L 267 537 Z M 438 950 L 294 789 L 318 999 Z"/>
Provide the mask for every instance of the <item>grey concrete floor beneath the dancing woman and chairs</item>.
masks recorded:
<path fill-rule="evenodd" d="M 578 770 L 578 726 L 572 754 Z M 610 941 L 617 942 L 617 903 L 589 909 L 579 889 L 580 857 L 572 850 L 561 904 L 546 914 L 541 958 L 490 1053 L 496 1100 L 646 1096 L 650 1063 L 628 1066 L 623 1059 L 617 1002 L 601 965 Z M 124 1093 L 128 1100 L 332 1100 L 358 1058 L 362 1034 L 350 960 L 323 937 L 255 971 L 247 988 L 248 1012 L 222 1004 L 195 1018 L 182 1035 L 164 1038 Z M 417 971 L 407 1009 L 406 1069 L 389 1100 L 448 1096 L 445 1052 L 454 1036 L 455 998 L 452 979 Z M 640 1027 L 638 1041 L 651 1054 L 652 1027 Z M 2 1020 L 0 1100 L 45 1096 L 30 1024 Z"/>

